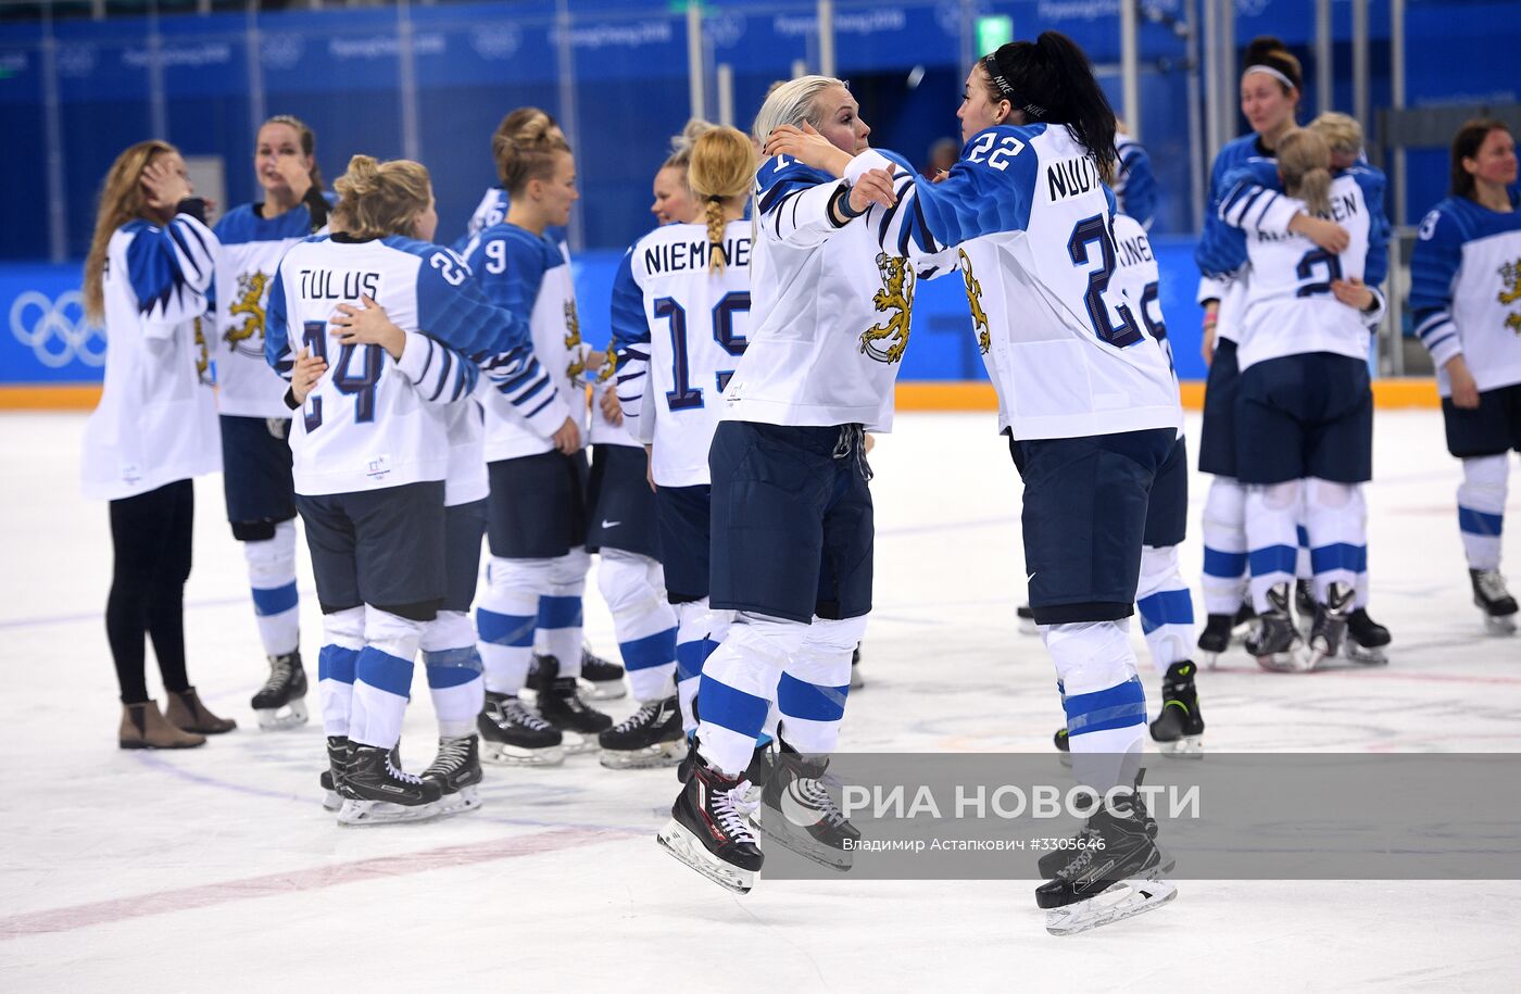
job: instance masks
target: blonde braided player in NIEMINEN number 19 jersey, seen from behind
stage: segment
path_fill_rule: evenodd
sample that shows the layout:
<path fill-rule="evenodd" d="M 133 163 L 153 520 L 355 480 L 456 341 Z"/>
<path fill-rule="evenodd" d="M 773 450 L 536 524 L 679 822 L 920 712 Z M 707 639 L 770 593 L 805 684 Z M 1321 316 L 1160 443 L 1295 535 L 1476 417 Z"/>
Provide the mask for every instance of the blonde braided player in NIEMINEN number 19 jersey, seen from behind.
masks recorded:
<path fill-rule="evenodd" d="M 678 629 L 674 672 L 642 678 L 648 685 L 634 696 L 643 707 L 602 734 L 610 764 L 633 766 L 645 755 L 680 760 L 683 733 L 697 728 L 692 698 L 703 664 L 732 617 L 709 605 L 707 451 L 718 400 L 748 340 L 751 240 L 742 217 L 753 178 L 754 149 L 742 132 L 701 135 L 689 179 L 704 205 L 703 223 L 646 234 L 624 255 L 613 284 L 618 400 L 634 438 L 649 447 L 666 597 Z"/>

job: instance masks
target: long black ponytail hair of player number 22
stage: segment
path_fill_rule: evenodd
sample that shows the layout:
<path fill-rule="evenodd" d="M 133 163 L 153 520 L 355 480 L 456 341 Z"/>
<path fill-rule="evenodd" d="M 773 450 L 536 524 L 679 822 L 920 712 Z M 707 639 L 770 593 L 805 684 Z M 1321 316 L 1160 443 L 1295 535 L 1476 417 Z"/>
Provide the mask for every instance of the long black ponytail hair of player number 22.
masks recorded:
<path fill-rule="evenodd" d="M 1031 125 L 1066 125 L 1098 167 L 1115 175 L 1115 111 L 1094 78 L 1088 55 L 1057 30 L 1010 41 L 983 59 L 993 102 L 1008 100 Z"/>

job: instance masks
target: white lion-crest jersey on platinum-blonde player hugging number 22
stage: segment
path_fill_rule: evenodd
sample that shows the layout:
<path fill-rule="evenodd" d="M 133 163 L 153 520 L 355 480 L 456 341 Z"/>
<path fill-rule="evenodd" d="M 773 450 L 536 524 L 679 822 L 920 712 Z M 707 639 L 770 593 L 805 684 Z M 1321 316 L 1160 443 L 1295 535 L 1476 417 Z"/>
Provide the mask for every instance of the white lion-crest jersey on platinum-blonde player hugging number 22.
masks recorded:
<path fill-rule="evenodd" d="M 910 166 L 894 157 L 900 169 Z M 724 391 L 722 418 L 764 424 L 893 427 L 917 277 L 864 219 L 837 228 L 838 179 L 786 157 L 756 173 L 750 260 L 754 321 Z"/>

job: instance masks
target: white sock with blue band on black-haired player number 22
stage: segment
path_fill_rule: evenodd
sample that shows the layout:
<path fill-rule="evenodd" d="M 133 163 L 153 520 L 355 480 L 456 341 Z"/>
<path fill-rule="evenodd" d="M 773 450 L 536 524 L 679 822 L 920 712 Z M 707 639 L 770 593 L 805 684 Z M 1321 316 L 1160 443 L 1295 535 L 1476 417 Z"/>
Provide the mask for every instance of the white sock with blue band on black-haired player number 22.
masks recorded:
<path fill-rule="evenodd" d="M 1042 625 L 1066 711 L 1072 775 L 1098 790 L 1135 783 L 1145 730 L 1145 689 L 1130 622 Z"/>

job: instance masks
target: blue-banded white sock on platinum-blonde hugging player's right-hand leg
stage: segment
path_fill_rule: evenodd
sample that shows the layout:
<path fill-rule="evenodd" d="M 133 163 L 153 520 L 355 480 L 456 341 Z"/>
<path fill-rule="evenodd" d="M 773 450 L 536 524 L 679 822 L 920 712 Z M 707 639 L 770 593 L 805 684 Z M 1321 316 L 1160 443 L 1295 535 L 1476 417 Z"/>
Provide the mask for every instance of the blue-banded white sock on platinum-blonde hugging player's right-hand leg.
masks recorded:
<path fill-rule="evenodd" d="M 780 734 L 799 752 L 834 752 L 850 693 L 850 654 L 865 637 L 865 616 L 814 619 L 802 647 L 782 667 L 776 705 Z"/>

